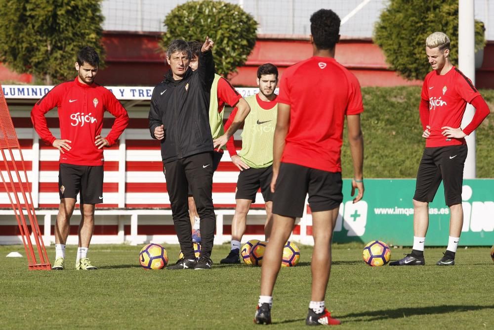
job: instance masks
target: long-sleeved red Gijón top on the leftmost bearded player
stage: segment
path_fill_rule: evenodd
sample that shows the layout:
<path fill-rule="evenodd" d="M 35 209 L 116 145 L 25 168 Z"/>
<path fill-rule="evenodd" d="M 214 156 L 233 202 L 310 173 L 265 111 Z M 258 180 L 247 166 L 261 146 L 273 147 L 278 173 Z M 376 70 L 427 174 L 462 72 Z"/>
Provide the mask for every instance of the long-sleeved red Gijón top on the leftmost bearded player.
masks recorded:
<path fill-rule="evenodd" d="M 58 108 L 60 139 L 71 141 L 71 150 L 60 153 L 60 163 L 103 165 L 103 148 L 98 149 L 94 143 L 96 136 L 101 135 L 105 111 L 116 117 L 105 138 L 110 145 L 118 140 L 128 125 L 127 111 L 112 92 L 98 84 L 83 84 L 76 77 L 53 87 L 31 111 L 36 132 L 49 145 L 57 138 L 48 129 L 44 115 L 54 107 Z"/>

